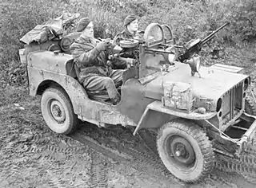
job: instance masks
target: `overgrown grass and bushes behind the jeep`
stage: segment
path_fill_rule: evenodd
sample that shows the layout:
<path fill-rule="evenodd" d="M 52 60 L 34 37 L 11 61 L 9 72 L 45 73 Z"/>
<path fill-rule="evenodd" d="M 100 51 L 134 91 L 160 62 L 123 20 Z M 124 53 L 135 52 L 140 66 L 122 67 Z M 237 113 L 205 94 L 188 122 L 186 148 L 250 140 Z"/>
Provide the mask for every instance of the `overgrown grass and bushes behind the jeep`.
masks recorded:
<path fill-rule="evenodd" d="M 64 12 L 89 16 L 97 37 L 113 38 L 123 29 L 126 15 L 137 14 L 140 29 L 150 22 L 171 25 L 180 45 L 205 37 L 227 21 L 231 25 L 218 34 L 218 45 L 235 54 L 252 49 L 256 41 L 254 0 L 2 0 L 0 10 L 0 87 L 26 84 L 26 71 L 18 59 L 18 49 L 23 48 L 19 39 Z M 246 61 L 255 61 L 253 56 Z"/>

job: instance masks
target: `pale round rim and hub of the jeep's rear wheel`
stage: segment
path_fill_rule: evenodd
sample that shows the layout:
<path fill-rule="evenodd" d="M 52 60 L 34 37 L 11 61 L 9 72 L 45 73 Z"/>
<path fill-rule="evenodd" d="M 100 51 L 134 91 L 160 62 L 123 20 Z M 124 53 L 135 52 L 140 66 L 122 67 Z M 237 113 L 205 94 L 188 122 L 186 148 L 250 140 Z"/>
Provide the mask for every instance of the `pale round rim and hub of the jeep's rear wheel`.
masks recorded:
<path fill-rule="evenodd" d="M 63 123 L 66 119 L 65 110 L 58 100 L 54 100 L 50 104 L 51 115 L 58 123 Z"/>

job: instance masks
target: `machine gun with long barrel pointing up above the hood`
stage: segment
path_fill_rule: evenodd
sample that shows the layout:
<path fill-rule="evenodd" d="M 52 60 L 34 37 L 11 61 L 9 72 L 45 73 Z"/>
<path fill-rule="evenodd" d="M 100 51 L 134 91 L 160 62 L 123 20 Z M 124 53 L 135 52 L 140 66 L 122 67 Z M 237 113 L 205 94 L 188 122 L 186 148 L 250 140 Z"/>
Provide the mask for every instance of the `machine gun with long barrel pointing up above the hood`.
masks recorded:
<path fill-rule="evenodd" d="M 229 24 L 230 22 L 227 22 L 226 24 L 222 25 L 221 27 L 219 27 L 218 29 L 210 33 L 210 35 L 205 37 L 203 40 L 195 39 L 195 40 L 189 41 L 188 44 L 185 46 L 185 49 L 186 49 L 185 53 L 182 53 L 182 55 L 178 56 L 178 60 L 183 62 L 190 59 L 190 57 L 192 57 L 194 53 L 199 53 L 202 49 L 202 46 L 215 37 L 215 33 L 217 33 L 220 29 L 224 28 L 226 25 L 229 25 Z"/>

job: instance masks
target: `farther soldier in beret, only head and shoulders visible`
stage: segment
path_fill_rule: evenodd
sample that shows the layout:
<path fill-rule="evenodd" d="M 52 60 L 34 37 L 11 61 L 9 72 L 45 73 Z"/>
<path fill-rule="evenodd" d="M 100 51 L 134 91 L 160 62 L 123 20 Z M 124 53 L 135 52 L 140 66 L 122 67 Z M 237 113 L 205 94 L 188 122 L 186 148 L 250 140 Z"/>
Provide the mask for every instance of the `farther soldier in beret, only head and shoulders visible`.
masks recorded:
<path fill-rule="evenodd" d="M 119 45 L 119 42 L 125 39 L 134 39 L 134 37 L 140 37 L 138 34 L 138 18 L 134 14 L 126 17 L 123 26 L 126 29 L 114 37 L 115 45 Z"/>

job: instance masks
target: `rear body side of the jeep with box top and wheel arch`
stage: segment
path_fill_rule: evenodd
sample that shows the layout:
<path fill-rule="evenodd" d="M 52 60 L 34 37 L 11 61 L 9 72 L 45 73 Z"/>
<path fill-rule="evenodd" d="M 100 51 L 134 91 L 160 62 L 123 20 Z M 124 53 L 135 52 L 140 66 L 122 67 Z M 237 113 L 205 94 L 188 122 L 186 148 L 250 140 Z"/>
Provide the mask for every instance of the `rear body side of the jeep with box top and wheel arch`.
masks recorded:
<path fill-rule="evenodd" d="M 88 100 L 86 90 L 76 80 L 72 69 L 72 56 L 50 51 L 30 52 L 27 56 L 27 72 L 30 96 L 42 94 L 50 85 L 61 86 L 70 97 L 74 113 L 81 114 L 82 101 Z M 73 62 L 73 61 L 72 61 Z"/>

